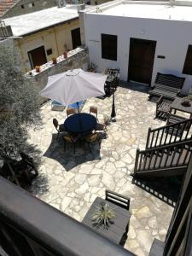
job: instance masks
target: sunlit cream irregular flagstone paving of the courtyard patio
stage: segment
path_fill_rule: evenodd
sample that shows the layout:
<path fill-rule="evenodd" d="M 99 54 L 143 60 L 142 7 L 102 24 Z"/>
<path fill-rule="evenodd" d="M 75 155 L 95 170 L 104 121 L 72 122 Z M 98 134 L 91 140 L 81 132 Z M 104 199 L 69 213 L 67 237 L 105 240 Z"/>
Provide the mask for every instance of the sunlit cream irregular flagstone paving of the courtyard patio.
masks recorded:
<path fill-rule="evenodd" d="M 125 248 L 139 256 L 148 255 L 154 237 L 165 239 L 173 212 L 173 207 L 132 183 L 130 176 L 136 149 L 145 147 L 148 127 L 165 125 L 154 119 L 155 104 L 147 99 L 148 94 L 143 91 L 119 87 L 115 93 L 117 122 L 108 125 L 108 138 L 102 139 L 101 148 L 93 145 L 91 154 L 86 145 L 79 145 L 75 155 L 72 145 L 67 145 L 64 152 L 61 137 L 58 142 L 55 140 L 52 119 L 62 123 L 66 111 L 51 111 L 49 103 L 41 110 L 44 125 L 31 131 L 31 142 L 43 155 L 32 193 L 79 221 L 96 196 L 104 198 L 105 189 L 131 197 L 131 224 Z M 105 115 L 110 116 L 112 98 L 90 99 L 83 112 L 89 113 L 90 105 L 98 107 L 98 119 L 102 121 Z"/>

